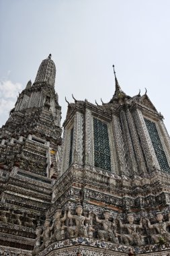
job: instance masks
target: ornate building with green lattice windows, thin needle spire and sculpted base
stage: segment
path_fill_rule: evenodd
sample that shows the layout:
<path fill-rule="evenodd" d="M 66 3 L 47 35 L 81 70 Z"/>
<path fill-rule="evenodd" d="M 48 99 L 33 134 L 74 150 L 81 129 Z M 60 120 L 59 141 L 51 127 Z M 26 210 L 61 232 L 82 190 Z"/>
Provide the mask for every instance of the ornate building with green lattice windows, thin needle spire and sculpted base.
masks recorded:
<path fill-rule="evenodd" d="M 60 178 L 48 210 L 54 223 L 60 220 L 58 211 L 63 214 L 66 229 L 54 237 L 53 227 L 39 256 L 118 256 L 130 250 L 167 256 L 169 135 L 147 93 L 128 96 L 115 71 L 114 76 L 116 88 L 108 103 L 74 97 L 68 102 Z"/>

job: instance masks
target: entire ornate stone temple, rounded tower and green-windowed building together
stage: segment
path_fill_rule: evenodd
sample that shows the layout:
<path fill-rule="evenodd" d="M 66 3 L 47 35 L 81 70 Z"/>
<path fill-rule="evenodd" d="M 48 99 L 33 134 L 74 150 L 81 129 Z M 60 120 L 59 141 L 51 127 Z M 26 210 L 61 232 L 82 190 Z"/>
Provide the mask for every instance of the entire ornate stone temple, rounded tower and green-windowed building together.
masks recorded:
<path fill-rule="evenodd" d="M 62 135 L 51 57 L 0 128 L 0 255 L 170 255 L 163 116 L 114 70 L 108 102 L 67 102 Z"/>

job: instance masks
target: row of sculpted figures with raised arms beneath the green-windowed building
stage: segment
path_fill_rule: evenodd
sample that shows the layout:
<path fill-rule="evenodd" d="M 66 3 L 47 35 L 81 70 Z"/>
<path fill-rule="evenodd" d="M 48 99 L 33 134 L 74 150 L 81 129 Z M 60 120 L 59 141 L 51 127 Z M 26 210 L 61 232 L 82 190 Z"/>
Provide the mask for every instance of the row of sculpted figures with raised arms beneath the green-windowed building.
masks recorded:
<path fill-rule="evenodd" d="M 68 211 L 68 212 L 67 212 Z M 140 230 L 144 228 L 142 225 L 142 218 L 140 219 L 139 224 L 134 224 L 134 215 L 132 213 L 128 214 L 127 220 L 128 223 L 123 224 L 120 218 L 117 218 L 119 225 L 116 225 L 116 222 L 111 222 L 109 219 L 111 217 L 110 211 L 105 210 L 103 212 L 104 219 L 99 219 L 97 214 L 95 214 L 95 220 L 97 223 L 100 223 L 102 228 L 93 228 L 93 215 L 89 212 L 88 217 L 83 216 L 83 207 L 77 205 L 75 212 L 77 215 L 72 215 L 71 210 L 68 209 L 65 211 L 64 216 L 62 217 L 62 210 L 57 210 L 54 215 L 54 220 L 52 225 L 50 224 L 51 220 L 46 217 L 44 222 L 44 227 L 38 226 L 36 228 L 36 242 L 32 255 L 37 255 L 44 248 L 48 247 L 51 243 L 55 241 L 60 241 L 65 239 L 65 232 L 67 231 L 67 236 L 70 238 L 78 236 L 93 237 L 93 233 L 97 231 L 97 237 L 104 241 L 111 241 L 113 243 L 119 243 L 118 237 L 120 237 L 121 243 L 125 245 L 144 245 L 144 235 L 140 233 Z M 65 221 L 75 220 L 75 226 L 65 225 Z M 161 241 L 170 241 L 170 233 L 167 230 L 170 226 L 170 214 L 169 220 L 163 222 L 163 214 L 157 212 L 157 223 L 151 224 L 148 219 L 145 219 L 145 222 L 148 222 L 148 229 L 154 230 L 153 234 L 151 233 L 151 238 L 153 243 L 159 243 Z M 120 230 L 121 232 L 118 232 Z M 155 234 L 157 232 L 157 234 Z"/>

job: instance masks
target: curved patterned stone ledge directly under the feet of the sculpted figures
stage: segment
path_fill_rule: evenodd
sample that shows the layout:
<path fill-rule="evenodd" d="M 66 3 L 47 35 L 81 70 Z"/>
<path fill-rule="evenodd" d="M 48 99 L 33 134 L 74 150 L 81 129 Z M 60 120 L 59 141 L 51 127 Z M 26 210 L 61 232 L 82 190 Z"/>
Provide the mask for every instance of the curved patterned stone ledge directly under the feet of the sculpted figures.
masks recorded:
<path fill-rule="evenodd" d="M 77 237 L 52 243 L 44 251 L 40 252 L 38 256 L 75 256 L 78 251 L 85 256 L 127 256 L 130 248 L 132 247 L 95 238 Z M 141 256 L 170 256 L 170 243 L 133 247 L 133 250 L 136 255 Z"/>

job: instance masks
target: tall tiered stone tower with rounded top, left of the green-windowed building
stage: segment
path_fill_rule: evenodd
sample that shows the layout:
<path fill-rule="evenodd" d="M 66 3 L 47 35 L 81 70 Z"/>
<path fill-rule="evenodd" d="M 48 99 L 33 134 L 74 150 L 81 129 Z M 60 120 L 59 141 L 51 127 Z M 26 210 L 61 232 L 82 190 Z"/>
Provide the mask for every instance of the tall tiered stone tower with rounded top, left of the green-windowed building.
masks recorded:
<path fill-rule="evenodd" d="M 34 84 L 28 82 L 0 129 L 1 255 L 30 255 L 34 228 L 43 222 L 50 206 L 50 178 L 58 176 L 61 144 L 55 76 L 49 55 L 42 61 Z"/>

